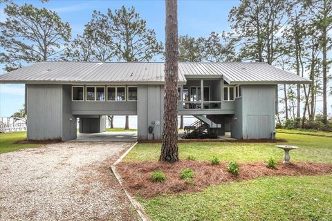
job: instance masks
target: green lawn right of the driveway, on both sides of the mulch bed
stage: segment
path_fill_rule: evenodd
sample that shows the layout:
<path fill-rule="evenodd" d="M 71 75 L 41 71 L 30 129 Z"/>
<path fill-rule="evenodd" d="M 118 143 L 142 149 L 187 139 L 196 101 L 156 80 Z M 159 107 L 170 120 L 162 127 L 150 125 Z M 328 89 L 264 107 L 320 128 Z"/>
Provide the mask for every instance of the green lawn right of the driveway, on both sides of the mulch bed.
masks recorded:
<path fill-rule="evenodd" d="M 287 131 L 286 131 L 287 132 Z M 277 133 L 286 144 L 299 146 L 291 160 L 332 163 L 332 137 Z M 259 162 L 284 151 L 268 143 L 181 143 L 185 159 Z M 160 144 L 138 144 L 124 158 L 129 161 L 156 161 Z M 241 172 L 240 172 L 241 173 Z M 166 181 L 167 182 L 167 181 Z M 201 192 L 136 197 L 151 220 L 331 220 L 332 175 L 260 177 L 246 182 L 208 186 Z"/>

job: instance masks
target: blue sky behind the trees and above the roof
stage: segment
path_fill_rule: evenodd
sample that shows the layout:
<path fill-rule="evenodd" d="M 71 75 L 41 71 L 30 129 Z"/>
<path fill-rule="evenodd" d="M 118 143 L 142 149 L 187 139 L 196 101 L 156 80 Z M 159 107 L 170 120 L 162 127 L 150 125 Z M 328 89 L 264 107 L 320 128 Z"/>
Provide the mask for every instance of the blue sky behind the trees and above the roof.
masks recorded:
<path fill-rule="evenodd" d="M 165 1 L 60 1 L 50 0 L 48 3 L 40 1 L 15 1 L 19 4 L 32 3 L 36 7 L 45 7 L 55 10 L 62 21 L 70 23 L 72 37 L 81 34 L 84 24 L 91 20 L 93 10 L 107 12 L 107 8 L 115 10 L 121 6 L 134 6 L 142 19 L 147 21 L 147 27 L 156 31 L 158 41 L 165 41 Z M 222 32 L 230 30 L 228 12 L 239 1 L 190 1 L 178 0 L 178 34 L 191 37 L 207 37 L 210 32 Z M 3 21 L 3 7 L 0 6 L 0 20 Z M 330 53 L 331 55 L 331 53 Z M 156 60 L 158 61 L 158 59 Z M 3 73 L 2 67 L 0 74 Z M 331 96 L 329 97 L 331 99 Z M 330 101 L 331 102 L 331 101 Z M 10 116 L 24 104 L 24 86 L 12 84 L 0 84 L 0 116 Z M 320 106 L 320 104 L 318 104 Z M 329 112 L 331 113 L 331 103 Z"/>

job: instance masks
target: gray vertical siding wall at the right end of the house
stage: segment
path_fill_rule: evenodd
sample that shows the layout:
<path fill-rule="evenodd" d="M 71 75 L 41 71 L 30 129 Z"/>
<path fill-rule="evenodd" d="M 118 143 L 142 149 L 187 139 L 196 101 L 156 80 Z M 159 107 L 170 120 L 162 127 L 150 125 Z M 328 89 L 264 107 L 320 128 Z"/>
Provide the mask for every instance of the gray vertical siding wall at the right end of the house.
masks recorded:
<path fill-rule="evenodd" d="M 270 139 L 275 131 L 275 86 L 242 86 L 243 139 Z"/>

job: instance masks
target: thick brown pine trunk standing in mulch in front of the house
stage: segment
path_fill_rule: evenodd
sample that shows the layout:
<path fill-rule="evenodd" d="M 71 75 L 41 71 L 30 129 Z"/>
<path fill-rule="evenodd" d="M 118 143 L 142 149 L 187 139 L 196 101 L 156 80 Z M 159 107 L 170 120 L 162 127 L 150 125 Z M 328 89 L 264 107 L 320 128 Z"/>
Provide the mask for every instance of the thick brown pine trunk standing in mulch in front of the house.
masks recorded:
<path fill-rule="evenodd" d="M 163 142 L 159 161 L 178 161 L 178 16 L 177 0 L 166 0 Z"/>

